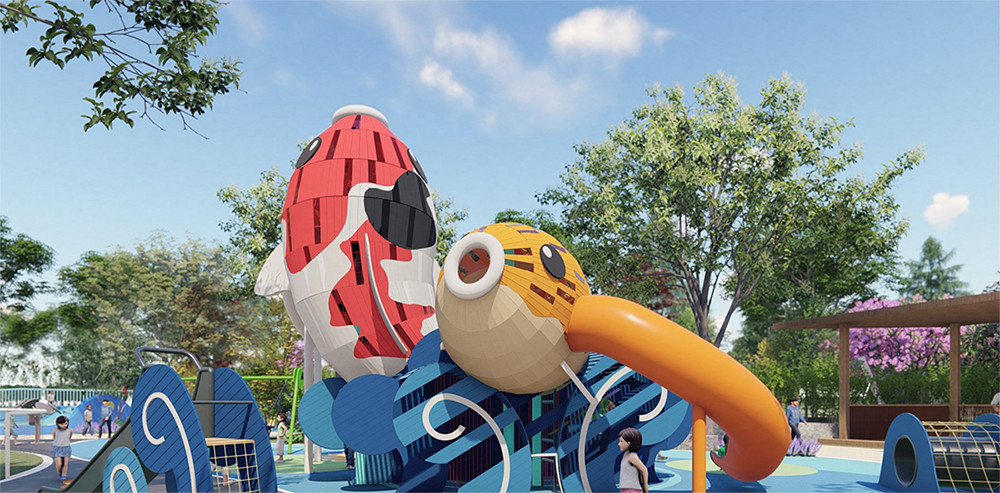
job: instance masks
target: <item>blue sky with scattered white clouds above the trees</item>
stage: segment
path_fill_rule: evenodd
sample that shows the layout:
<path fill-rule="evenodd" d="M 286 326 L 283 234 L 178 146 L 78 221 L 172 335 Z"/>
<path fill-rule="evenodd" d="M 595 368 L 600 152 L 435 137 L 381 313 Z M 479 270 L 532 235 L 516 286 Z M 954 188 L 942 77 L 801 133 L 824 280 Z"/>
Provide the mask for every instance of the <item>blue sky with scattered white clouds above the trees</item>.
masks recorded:
<path fill-rule="evenodd" d="M 808 111 L 853 118 L 844 143 L 866 153 L 851 173 L 873 176 L 924 146 L 894 189 L 911 223 L 900 254 L 917 258 L 934 235 L 979 292 L 1000 279 L 998 5 L 234 0 L 204 54 L 239 58 L 242 91 L 192 122 L 208 140 L 162 116 L 166 131 L 137 121 L 84 133 L 81 98 L 101 67 L 29 68 L 37 28 L 3 34 L 0 214 L 53 247 L 59 266 L 158 229 L 224 242 L 216 192 L 271 166 L 291 174 L 297 144 L 361 103 L 387 116 L 432 188 L 468 209 L 464 232 L 538 207 L 574 144 L 603 140 L 654 83 L 690 89 L 721 70 L 756 102 L 789 73 Z"/>

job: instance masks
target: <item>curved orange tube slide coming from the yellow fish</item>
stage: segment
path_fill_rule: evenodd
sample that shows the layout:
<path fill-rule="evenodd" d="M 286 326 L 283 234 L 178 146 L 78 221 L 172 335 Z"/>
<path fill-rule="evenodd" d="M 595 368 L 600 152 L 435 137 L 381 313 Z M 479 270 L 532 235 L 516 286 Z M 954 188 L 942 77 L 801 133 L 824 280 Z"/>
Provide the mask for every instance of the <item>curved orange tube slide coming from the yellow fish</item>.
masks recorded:
<path fill-rule="evenodd" d="M 631 301 L 589 295 L 578 299 L 564 329 L 573 351 L 610 356 L 700 406 L 729 435 L 719 468 L 740 481 L 775 471 L 791 435 L 781 404 L 728 354 L 684 327 Z"/>

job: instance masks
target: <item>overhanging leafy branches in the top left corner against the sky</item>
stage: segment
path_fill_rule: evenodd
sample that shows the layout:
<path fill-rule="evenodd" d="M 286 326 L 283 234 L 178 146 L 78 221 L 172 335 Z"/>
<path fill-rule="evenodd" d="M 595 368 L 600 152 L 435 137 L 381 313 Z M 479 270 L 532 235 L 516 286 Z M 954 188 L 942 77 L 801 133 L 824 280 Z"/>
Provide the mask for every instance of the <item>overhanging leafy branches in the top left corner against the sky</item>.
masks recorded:
<path fill-rule="evenodd" d="M 133 115 L 150 110 L 189 118 L 211 109 L 216 95 L 239 87 L 239 61 L 199 58 L 198 49 L 218 28 L 216 0 L 89 0 L 70 6 L 52 0 L 0 3 L 5 33 L 44 29 L 28 49 L 28 64 L 42 61 L 59 68 L 76 59 L 102 61 L 107 71 L 94 82 L 84 130 L 116 121 L 133 126 Z M 89 21 L 97 19 L 98 28 Z M 159 125 L 157 125 L 159 127 Z"/>

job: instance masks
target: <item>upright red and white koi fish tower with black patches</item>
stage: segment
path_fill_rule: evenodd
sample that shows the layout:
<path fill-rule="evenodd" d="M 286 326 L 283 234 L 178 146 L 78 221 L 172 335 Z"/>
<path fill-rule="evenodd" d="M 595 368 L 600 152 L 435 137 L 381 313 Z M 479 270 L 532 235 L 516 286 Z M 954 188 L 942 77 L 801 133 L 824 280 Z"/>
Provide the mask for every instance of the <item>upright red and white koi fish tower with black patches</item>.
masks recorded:
<path fill-rule="evenodd" d="M 427 178 L 385 116 L 345 106 L 299 156 L 282 241 L 254 291 L 281 295 L 337 375 L 394 375 L 437 328 Z"/>

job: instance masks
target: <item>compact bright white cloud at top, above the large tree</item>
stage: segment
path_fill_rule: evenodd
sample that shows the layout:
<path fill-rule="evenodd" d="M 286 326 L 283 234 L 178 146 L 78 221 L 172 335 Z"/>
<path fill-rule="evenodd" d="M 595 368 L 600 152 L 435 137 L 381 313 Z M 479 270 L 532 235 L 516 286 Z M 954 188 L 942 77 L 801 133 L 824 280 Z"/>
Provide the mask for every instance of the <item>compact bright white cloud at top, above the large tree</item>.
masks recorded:
<path fill-rule="evenodd" d="M 633 8 L 593 7 L 568 17 L 549 31 L 549 46 L 561 56 L 592 56 L 615 62 L 642 51 L 649 39 L 662 43 L 670 31 L 651 26 Z"/>

